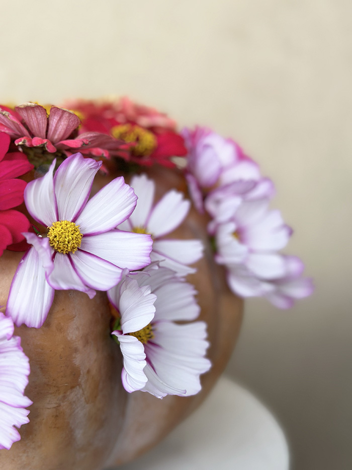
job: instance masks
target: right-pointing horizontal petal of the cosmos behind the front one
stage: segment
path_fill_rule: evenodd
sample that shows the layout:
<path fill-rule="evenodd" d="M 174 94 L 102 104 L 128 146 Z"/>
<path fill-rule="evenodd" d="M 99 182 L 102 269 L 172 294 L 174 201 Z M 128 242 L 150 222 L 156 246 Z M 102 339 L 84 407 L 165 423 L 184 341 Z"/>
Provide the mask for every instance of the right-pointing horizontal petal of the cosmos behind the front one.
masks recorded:
<path fill-rule="evenodd" d="M 201 240 L 156 240 L 153 251 L 181 264 L 192 264 L 201 259 L 204 246 Z"/>

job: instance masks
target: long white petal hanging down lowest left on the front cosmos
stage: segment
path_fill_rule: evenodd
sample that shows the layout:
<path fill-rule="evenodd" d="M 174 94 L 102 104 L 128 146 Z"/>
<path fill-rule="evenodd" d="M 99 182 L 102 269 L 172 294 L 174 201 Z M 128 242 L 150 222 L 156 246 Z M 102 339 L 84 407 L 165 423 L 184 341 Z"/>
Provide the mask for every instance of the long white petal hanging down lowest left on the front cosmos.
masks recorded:
<path fill-rule="evenodd" d="M 38 251 L 32 247 L 20 261 L 12 280 L 6 314 L 17 326 L 40 328 L 54 298 L 54 289 L 45 278 Z"/>

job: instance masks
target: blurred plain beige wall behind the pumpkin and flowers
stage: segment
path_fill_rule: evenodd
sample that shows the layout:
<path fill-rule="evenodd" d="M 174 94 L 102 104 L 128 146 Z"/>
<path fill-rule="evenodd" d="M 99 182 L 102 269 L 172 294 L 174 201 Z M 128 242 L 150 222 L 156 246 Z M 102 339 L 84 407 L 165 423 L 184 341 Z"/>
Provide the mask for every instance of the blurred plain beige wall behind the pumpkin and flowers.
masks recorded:
<path fill-rule="evenodd" d="M 316 292 L 290 311 L 248 300 L 226 373 L 299 470 L 352 468 L 351 17 L 347 0 L 2 5 L 0 102 L 129 95 L 234 138 L 276 182 Z"/>

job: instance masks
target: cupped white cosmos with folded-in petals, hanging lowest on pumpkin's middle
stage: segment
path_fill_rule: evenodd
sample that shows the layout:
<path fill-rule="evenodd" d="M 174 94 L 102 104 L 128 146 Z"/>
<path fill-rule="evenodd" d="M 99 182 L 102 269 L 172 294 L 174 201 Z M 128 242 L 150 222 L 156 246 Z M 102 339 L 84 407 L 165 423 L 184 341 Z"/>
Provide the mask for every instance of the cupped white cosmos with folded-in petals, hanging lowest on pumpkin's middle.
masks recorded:
<path fill-rule="evenodd" d="M 113 334 L 124 356 L 122 380 L 127 391 L 162 398 L 201 390 L 200 375 L 211 363 L 205 358 L 206 323 L 192 321 L 200 310 L 195 293 L 191 284 L 155 264 L 130 273 L 108 291 L 121 315 L 121 328 Z M 190 322 L 175 323 L 185 320 Z"/>

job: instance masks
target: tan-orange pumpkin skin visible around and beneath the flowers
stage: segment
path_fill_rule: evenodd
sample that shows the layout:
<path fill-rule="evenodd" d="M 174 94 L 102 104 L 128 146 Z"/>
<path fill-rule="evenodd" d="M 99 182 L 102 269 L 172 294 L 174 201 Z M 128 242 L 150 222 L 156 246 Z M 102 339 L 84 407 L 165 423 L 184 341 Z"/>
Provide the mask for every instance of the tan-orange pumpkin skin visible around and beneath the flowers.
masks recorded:
<path fill-rule="evenodd" d="M 176 170 L 146 171 L 156 182 L 156 197 L 170 188 L 185 189 Z M 119 176 L 96 176 L 92 194 Z M 128 182 L 128 177 L 126 177 Z M 15 328 L 30 359 L 26 395 L 30 422 L 20 428 L 21 440 L 0 450 L 4 470 L 101 470 L 126 463 L 155 445 L 206 397 L 223 371 L 240 328 L 243 302 L 226 287 L 224 271 L 213 261 L 207 221 L 193 208 L 170 237 L 202 239 L 204 257 L 188 281 L 198 291 L 200 319 L 208 324 L 210 371 L 202 375 L 195 396 L 128 393 L 121 383 L 120 348 L 110 335 L 107 295 L 90 300 L 78 291 L 56 291 L 44 325 Z M 5 251 L 0 258 L 0 305 L 6 305 L 12 278 L 23 253 Z M 5 312 L 5 307 L 1 309 Z"/>

